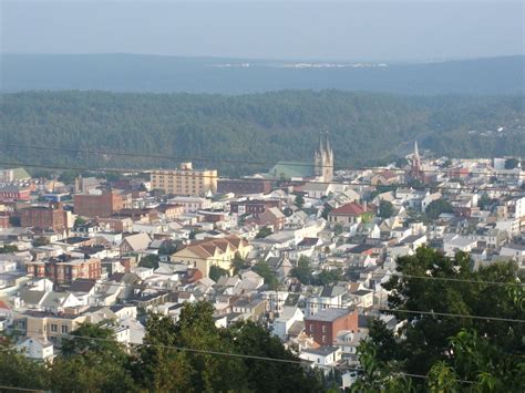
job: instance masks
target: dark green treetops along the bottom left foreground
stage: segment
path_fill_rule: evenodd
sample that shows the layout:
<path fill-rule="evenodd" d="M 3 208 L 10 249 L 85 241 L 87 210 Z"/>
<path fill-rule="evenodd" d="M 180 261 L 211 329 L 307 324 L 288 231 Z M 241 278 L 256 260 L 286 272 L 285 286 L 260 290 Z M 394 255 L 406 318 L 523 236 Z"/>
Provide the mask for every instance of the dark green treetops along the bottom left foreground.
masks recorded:
<path fill-rule="evenodd" d="M 185 303 L 177 323 L 150 314 L 144 345 L 131 352 L 110 329 L 85 323 L 49 366 L 4 342 L 0 385 L 53 392 L 321 391 L 319 374 L 299 363 L 237 356 L 299 361 L 262 327 L 247 322 L 218 329 L 213 313 L 213 304 L 202 301 Z"/>

